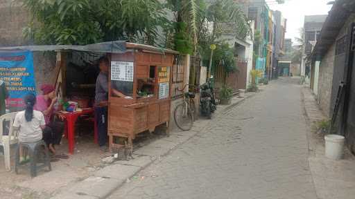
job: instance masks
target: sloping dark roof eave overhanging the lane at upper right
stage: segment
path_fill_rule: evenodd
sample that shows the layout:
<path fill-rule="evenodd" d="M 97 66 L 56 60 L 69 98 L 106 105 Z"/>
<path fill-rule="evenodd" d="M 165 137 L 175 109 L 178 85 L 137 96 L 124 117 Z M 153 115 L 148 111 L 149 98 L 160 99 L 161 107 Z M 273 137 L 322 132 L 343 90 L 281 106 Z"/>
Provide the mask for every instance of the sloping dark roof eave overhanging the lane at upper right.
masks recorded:
<path fill-rule="evenodd" d="M 345 21 L 355 10 L 354 0 L 338 0 L 334 3 L 329 11 L 329 15 L 325 20 L 320 32 L 320 39 L 312 52 L 315 59 L 322 58 L 336 41 L 341 28 L 345 25 Z"/>

